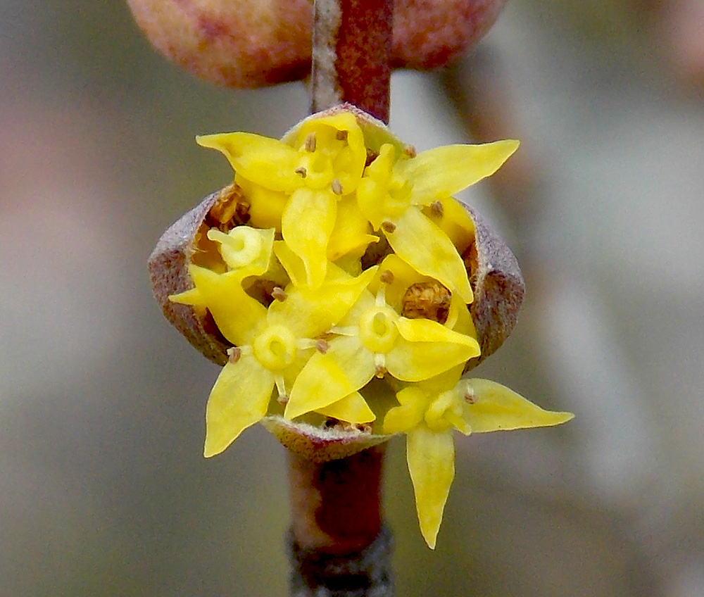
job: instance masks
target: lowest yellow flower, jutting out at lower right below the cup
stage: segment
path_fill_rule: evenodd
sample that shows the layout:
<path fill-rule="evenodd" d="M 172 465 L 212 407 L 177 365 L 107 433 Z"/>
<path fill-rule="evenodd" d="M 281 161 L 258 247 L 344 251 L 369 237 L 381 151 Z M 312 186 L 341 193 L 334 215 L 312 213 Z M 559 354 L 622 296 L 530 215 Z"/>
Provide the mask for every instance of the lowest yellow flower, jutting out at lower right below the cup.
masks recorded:
<path fill-rule="evenodd" d="M 420 522 L 435 547 L 443 510 L 455 476 L 453 429 L 469 435 L 567 422 L 572 413 L 543 410 L 487 379 L 460 379 L 462 367 L 396 394 L 400 406 L 384 418 L 385 433 L 406 433 L 406 458 Z"/>

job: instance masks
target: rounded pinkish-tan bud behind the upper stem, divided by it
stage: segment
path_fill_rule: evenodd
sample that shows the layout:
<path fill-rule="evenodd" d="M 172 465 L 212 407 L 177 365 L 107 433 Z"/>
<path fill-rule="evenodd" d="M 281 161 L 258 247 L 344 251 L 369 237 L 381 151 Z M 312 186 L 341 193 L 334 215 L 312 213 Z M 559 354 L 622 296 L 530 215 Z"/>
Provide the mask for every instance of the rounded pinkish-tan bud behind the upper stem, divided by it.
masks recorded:
<path fill-rule="evenodd" d="M 227 87 L 265 87 L 310 71 L 309 0 L 127 0 L 165 56 Z M 505 0 L 396 0 L 392 64 L 437 68 L 489 30 Z"/>

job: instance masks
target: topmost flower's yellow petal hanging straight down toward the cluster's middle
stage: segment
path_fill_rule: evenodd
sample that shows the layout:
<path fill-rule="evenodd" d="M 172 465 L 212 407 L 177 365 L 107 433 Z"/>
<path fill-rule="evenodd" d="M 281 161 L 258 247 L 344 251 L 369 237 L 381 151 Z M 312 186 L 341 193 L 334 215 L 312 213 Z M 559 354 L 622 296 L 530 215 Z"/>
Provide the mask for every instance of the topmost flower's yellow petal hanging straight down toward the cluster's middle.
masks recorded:
<path fill-rule="evenodd" d="M 327 270 L 327 241 L 337 216 L 332 191 L 298 189 L 291 195 L 281 220 L 284 241 L 303 260 L 306 281 L 318 288 Z"/>

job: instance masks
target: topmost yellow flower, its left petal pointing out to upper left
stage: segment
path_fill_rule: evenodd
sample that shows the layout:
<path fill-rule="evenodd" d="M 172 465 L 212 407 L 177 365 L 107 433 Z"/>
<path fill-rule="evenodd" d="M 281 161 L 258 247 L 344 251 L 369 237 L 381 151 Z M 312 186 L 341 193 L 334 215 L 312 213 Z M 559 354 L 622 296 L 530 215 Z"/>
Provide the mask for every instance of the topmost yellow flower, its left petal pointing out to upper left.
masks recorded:
<path fill-rule="evenodd" d="M 291 251 L 303 260 L 307 284 L 320 287 L 327 270 L 328 243 L 336 228 L 338 201 L 356 191 L 367 158 L 354 115 L 341 112 L 307 120 L 291 144 L 244 132 L 211 134 L 197 140 L 225 153 L 237 172 L 236 182 L 251 202 L 252 222 L 280 228 Z M 354 215 L 347 205 L 343 210 L 345 220 L 338 228 Z M 356 230 L 349 250 L 376 239 L 366 234 L 366 222 L 363 227 L 363 231 Z M 336 249 L 338 253 L 339 241 Z"/>

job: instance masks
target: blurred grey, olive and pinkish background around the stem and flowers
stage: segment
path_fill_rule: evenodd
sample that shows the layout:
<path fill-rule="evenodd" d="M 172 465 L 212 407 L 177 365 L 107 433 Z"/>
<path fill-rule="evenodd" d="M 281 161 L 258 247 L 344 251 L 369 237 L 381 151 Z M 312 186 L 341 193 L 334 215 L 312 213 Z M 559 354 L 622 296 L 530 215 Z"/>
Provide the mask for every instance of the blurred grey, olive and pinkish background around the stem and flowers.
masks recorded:
<path fill-rule="evenodd" d="M 476 375 L 577 415 L 458 439 L 434 552 L 391 444 L 399 596 L 704 595 L 703 14 L 512 0 L 455 68 L 394 75 L 418 149 L 522 139 L 463 196 L 528 289 Z M 283 448 L 256 427 L 202 458 L 218 367 L 145 262 L 231 180 L 195 134 L 278 137 L 307 105 L 183 73 L 122 1 L 0 0 L 1 597 L 287 594 Z"/>

